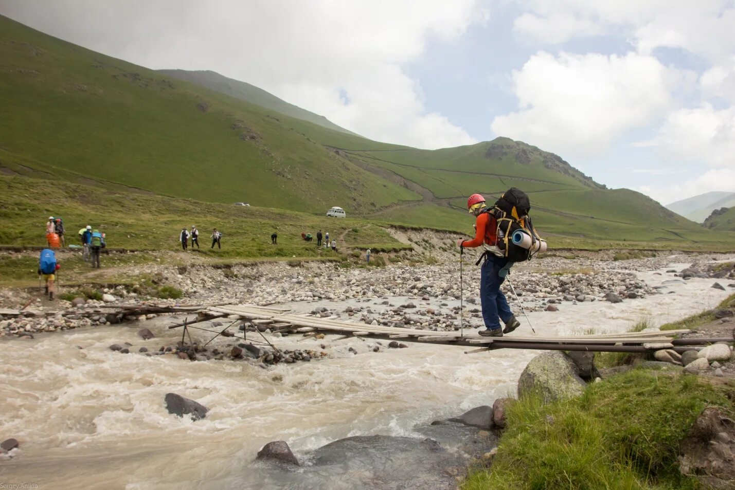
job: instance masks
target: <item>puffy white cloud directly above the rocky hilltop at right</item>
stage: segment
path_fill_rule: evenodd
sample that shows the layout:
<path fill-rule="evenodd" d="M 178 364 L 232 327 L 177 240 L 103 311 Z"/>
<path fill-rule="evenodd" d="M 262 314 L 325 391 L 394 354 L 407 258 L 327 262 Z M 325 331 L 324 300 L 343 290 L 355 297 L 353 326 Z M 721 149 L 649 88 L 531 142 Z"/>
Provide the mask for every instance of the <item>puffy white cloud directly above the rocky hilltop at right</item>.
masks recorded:
<path fill-rule="evenodd" d="M 492 121 L 495 134 L 567 156 L 595 156 L 626 131 L 661 118 L 681 74 L 653 57 L 545 52 L 513 73 L 519 110 Z"/>

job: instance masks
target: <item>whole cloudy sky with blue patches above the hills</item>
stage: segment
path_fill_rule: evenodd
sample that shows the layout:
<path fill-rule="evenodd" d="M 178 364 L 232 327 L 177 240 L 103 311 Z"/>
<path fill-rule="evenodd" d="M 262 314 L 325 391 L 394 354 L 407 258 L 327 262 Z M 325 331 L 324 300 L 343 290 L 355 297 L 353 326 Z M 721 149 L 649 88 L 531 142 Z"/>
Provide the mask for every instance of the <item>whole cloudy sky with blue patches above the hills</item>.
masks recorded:
<path fill-rule="evenodd" d="M 149 68 L 213 70 L 375 140 L 497 136 L 669 203 L 735 191 L 732 0 L 0 0 Z"/>

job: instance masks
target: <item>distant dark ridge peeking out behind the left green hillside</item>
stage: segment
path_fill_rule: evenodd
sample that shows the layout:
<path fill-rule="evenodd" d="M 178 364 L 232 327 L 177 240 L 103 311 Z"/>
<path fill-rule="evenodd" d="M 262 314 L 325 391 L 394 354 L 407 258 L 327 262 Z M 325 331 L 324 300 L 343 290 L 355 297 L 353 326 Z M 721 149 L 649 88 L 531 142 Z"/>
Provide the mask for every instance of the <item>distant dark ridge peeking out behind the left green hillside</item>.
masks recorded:
<path fill-rule="evenodd" d="M 187 70 L 157 70 L 159 73 L 164 73 L 168 76 L 176 77 L 177 79 L 186 80 L 207 87 L 210 90 L 217 90 L 218 92 L 224 93 L 234 98 L 239 98 L 243 101 L 248 101 L 251 104 L 256 104 L 265 109 L 270 109 L 279 112 L 284 115 L 291 116 L 301 120 L 309 121 L 309 123 L 315 123 L 325 128 L 334 129 L 334 131 L 340 131 L 346 134 L 355 134 L 348 129 L 337 126 L 331 122 L 331 120 L 325 118 L 323 115 L 309 112 L 306 109 L 295 106 L 293 104 L 284 101 L 281 98 L 274 96 L 270 92 L 262 90 L 262 88 L 256 87 L 246 82 L 240 82 L 240 80 L 230 79 L 226 76 L 217 73 L 216 71 L 204 70 L 204 71 L 187 71 Z"/>

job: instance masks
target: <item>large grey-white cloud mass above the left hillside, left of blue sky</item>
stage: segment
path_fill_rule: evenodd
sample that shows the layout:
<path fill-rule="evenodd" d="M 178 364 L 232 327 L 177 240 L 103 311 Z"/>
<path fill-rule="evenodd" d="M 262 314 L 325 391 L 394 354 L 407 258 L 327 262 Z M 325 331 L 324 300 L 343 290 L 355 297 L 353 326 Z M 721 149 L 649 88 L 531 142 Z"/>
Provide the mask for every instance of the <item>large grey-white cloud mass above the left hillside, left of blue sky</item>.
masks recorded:
<path fill-rule="evenodd" d="M 0 12 L 151 68 L 218 71 L 367 137 L 437 148 L 474 141 L 427 113 L 401 67 L 428 40 L 487 21 L 481 1 L 0 0 Z"/>

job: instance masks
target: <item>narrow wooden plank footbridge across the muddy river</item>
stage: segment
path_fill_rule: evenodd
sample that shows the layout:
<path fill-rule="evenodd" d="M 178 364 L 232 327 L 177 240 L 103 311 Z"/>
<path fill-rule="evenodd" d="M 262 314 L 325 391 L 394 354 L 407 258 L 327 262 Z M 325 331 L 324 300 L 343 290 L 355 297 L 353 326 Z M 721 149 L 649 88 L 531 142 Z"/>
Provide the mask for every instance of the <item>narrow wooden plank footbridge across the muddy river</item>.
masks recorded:
<path fill-rule="evenodd" d="M 187 310 L 187 311 L 192 311 Z M 680 334 L 689 330 L 646 331 L 620 334 L 600 334 L 581 336 L 522 336 L 484 337 L 468 329 L 462 331 L 433 331 L 418 328 L 399 328 L 384 325 L 368 325 L 339 320 L 338 317 L 320 317 L 314 314 L 291 313 L 290 310 L 273 306 L 253 306 L 245 304 L 226 304 L 207 306 L 196 311 L 197 317 L 191 322 L 178 323 L 169 328 L 187 327 L 194 323 L 217 318 L 243 320 L 256 327 L 270 331 L 287 331 L 293 334 L 314 336 L 317 334 L 336 334 L 343 339 L 370 338 L 401 340 L 403 342 L 423 342 L 437 345 L 461 345 L 476 347 L 473 352 L 493 349 L 538 349 L 538 350 L 585 350 L 600 352 L 654 352 L 671 349 L 677 352 L 698 349 L 714 342 L 732 342 L 731 338 L 717 339 L 679 339 Z M 234 325 L 234 323 L 231 324 Z M 228 327 L 229 328 L 229 327 Z M 226 328 L 227 329 L 227 328 Z M 225 330 L 226 330 L 225 329 Z M 230 335 L 228 335 L 230 336 Z M 247 340 L 247 333 L 245 333 Z"/>

